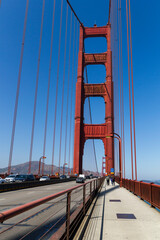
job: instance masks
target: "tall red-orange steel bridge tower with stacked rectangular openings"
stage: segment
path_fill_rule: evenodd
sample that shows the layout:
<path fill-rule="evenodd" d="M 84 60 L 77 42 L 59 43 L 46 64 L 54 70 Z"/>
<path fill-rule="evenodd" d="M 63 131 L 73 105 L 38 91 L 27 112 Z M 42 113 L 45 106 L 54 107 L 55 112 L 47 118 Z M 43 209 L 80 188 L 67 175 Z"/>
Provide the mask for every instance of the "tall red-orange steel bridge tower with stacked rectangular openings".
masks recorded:
<path fill-rule="evenodd" d="M 86 54 L 84 53 L 84 39 L 89 37 L 105 37 L 107 52 Z M 85 84 L 84 67 L 88 64 L 103 64 L 106 68 L 106 81 L 104 84 Z M 105 123 L 84 124 L 85 98 L 103 97 L 105 101 Z M 76 83 L 75 105 L 75 133 L 74 133 L 74 162 L 73 172 L 82 173 L 82 157 L 85 141 L 88 139 L 101 139 L 104 143 L 106 172 L 110 174 L 114 168 L 114 140 L 106 138 L 113 133 L 113 82 L 112 82 L 112 52 L 111 52 L 111 25 L 103 27 L 80 26 L 78 75 Z"/>

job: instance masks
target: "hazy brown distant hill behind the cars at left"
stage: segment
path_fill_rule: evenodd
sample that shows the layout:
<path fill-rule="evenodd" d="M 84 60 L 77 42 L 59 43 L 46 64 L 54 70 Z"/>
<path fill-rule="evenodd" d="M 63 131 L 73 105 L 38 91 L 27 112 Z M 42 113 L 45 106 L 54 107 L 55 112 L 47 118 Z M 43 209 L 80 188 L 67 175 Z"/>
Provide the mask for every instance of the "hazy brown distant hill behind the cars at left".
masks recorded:
<path fill-rule="evenodd" d="M 42 165 L 41 165 L 42 166 Z M 14 165 L 11 167 L 11 172 L 12 173 L 21 173 L 21 174 L 27 174 L 28 173 L 28 167 L 29 167 L 29 163 L 28 162 L 25 162 L 25 163 L 22 163 L 22 164 L 18 164 L 18 165 Z M 38 167 L 39 167 L 39 162 L 38 161 L 32 161 L 32 164 L 31 164 L 31 173 L 32 174 L 38 174 Z M 48 165 L 48 164 L 44 164 L 44 175 L 48 175 L 51 173 L 51 165 Z M 0 168 L 0 174 L 5 174 L 7 173 L 7 170 L 8 168 Z M 58 167 L 53 165 L 53 171 L 54 173 L 55 172 L 58 172 Z M 65 168 L 66 170 L 66 173 L 68 172 L 68 168 L 66 167 Z M 71 169 L 69 169 L 71 171 Z M 89 175 L 89 174 L 93 174 L 93 175 L 96 175 L 95 172 L 93 171 L 89 171 L 89 170 L 84 170 L 83 171 L 85 175 Z M 61 167 L 60 168 L 60 173 L 62 174 L 63 173 L 63 168 Z"/>

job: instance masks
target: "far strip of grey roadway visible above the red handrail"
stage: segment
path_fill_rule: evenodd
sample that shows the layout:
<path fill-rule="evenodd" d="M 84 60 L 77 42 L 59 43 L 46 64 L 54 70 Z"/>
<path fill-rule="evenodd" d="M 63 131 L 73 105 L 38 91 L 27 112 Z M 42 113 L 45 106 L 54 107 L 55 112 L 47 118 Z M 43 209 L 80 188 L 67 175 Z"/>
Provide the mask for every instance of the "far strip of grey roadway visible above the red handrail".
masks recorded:
<path fill-rule="evenodd" d="M 86 180 L 87 182 L 88 180 Z M 64 191 L 79 184 L 76 181 L 45 185 L 34 188 L 0 193 L 0 212 L 23 205 L 28 202 Z"/>

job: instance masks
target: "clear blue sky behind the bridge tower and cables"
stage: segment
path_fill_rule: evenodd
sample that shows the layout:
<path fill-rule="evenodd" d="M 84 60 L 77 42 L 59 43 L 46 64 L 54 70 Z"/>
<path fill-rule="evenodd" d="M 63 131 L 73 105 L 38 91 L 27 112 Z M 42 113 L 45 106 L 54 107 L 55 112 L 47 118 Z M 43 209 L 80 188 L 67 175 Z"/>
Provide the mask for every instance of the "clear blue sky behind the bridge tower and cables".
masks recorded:
<path fill-rule="evenodd" d="M 62 53 L 64 52 L 64 25 L 66 14 L 66 1 L 64 1 L 64 15 L 62 28 Z M 75 11 L 85 26 L 105 25 L 108 19 L 108 0 L 71 0 Z M 24 25 L 26 0 L 2 0 L 0 7 L 0 167 L 8 165 L 13 111 L 15 104 L 16 85 L 20 60 L 22 32 Z M 133 68 L 135 92 L 135 117 L 137 139 L 137 164 L 139 179 L 160 179 L 160 33 L 159 15 L 160 2 L 133 1 L 131 0 L 132 14 L 132 41 L 133 41 Z M 42 53 L 40 64 L 38 103 L 36 112 L 36 128 L 33 148 L 33 160 L 38 160 L 43 151 L 44 121 L 47 95 L 47 81 L 49 68 L 49 50 L 51 37 L 53 0 L 46 0 L 44 28 L 42 39 Z M 40 35 L 40 21 L 42 0 L 30 0 L 23 70 L 20 87 L 20 102 L 18 106 L 16 134 L 13 152 L 13 164 L 26 162 L 29 159 L 30 134 L 33 114 L 33 99 L 37 71 L 38 46 Z M 57 49 L 59 36 L 60 1 L 56 1 L 54 49 L 52 61 L 51 92 L 49 102 L 49 119 L 46 145 L 46 163 L 51 163 L 53 119 L 55 101 L 55 81 L 57 74 Z M 70 13 L 69 13 L 70 16 Z M 125 1 L 122 1 L 122 27 L 123 27 L 123 71 L 124 71 L 124 98 L 125 98 L 125 141 L 126 141 L 126 172 L 131 177 L 130 171 L 130 131 L 129 131 L 129 106 L 128 106 L 128 70 L 127 70 L 127 36 Z M 77 26 L 77 25 L 76 25 Z M 73 28 L 72 28 L 73 37 Z M 68 34 L 69 39 L 69 34 Z M 73 38 L 72 38 L 73 39 Z M 87 39 L 85 41 L 87 52 L 106 51 L 105 39 Z M 67 49 L 68 57 L 68 49 Z M 61 66 L 63 54 L 61 54 Z M 76 63 L 76 62 L 75 62 Z M 67 62 L 68 69 L 68 62 Z M 72 67 L 71 67 L 72 72 Z M 68 71 L 66 70 L 66 75 Z M 63 69 L 60 70 L 60 86 L 62 84 Z M 76 73 L 74 71 L 74 77 Z M 103 82 L 105 69 L 103 66 L 88 67 L 89 82 Z M 114 79 L 115 85 L 117 80 Z M 67 80 L 65 81 L 67 88 Z M 74 82 L 75 87 L 75 82 Z M 61 91 L 58 95 L 58 115 L 55 145 L 55 160 L 58 163 L 59 125 Z M 66 95 L 65 95 L 66 96 Z M 65 98 L 66 99 L 66 98 Z M 66 100 L 65 100 L 66 102 Z M 74 106 L 74 104 L 73 104 Z M 104 122 L 104 101 L 101 98 L 91 99 L 93 123 Z M 88 107 L 85 104 L 85 122 L 88 121 Z M 74 117 L 74 113 L 72 119 Z M 117 126 L 116 126 L 117 128 Z M 65 130 L 65 129 L 64 129 Z M 116 129 L 117 130 L 117 129 Z M 63 134 L 64 142 L 64 134 Z M 73 128 L 72 128 L 73 143 Z M 89 141 L 84 149 L 84 168 L 95 169 L 92 143 Z M 64 150 L 64 146 L 62 152 Z M 72 149 L 73 152 L 73 149 Z M 96 141 L 96 152 L 99 171 L 101 159 L 104 155 L 103 144 Z M 63 154 L 62 154 L 63 155 Z M 62 157 L 63 161 L 63 157 Z"/>

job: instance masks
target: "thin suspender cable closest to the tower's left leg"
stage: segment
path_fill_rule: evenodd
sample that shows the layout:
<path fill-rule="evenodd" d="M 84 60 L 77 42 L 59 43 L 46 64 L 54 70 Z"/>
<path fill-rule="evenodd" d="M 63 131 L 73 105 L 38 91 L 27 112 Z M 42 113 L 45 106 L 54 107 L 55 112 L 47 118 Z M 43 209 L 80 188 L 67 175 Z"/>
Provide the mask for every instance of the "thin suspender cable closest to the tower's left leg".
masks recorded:
<path fill-rule="evenodd" d="M 68 152 L 68 167 L 70 167 L 70 156 L 71 156 L 71 127 L 72 127 L 72 99 L 73 99 L 73 79 L 74 79 L 74 47 L 75 47 L 75 18 L 73 28 L 73 60 L 72 60 L 72 82 L 71 82 L 71 109 L 70 109 L 70 127 L 69 127 L 69 152 Z"/>

